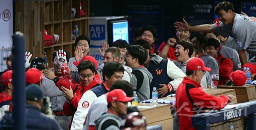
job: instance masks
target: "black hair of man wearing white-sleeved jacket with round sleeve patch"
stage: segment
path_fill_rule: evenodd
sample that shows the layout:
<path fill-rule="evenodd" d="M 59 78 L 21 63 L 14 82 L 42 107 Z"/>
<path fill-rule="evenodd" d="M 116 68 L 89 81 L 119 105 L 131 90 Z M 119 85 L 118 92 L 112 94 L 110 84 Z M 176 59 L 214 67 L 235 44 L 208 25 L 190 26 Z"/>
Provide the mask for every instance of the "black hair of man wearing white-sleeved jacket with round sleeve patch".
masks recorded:
<path fill-rule="evenodd" d="M 102 69 L 103 80 L 105 80 L 105 76 L 111 77 L 114 74 L 114 72 L 119 72 L 119 71 L 124 72 L 124 68 L 119 62 L 111 61 L 105 64 Z"/>

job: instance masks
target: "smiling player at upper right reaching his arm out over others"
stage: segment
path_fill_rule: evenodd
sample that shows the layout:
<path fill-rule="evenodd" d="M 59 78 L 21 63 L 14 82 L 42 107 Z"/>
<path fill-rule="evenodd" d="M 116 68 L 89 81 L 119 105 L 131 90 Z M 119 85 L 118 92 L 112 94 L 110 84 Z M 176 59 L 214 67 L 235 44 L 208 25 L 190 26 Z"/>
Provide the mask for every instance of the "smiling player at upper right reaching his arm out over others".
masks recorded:
<path fill-rule="evenodd" d="M 217 4 L 214 10 L 219 16 L 220 22 L 214 24 L 189 25 L 185 19 L 184 23 L 176 21 L 174 27 L 182 30 L 195 32 L 217 32 L 223 37 L 232 35 L 235 39 L 241 66 L 247 63 L 245 51 L 256 55 L 256 20 L 243 14 L 234 12 L 233 4 L 228 1 L 222 1 Z M 256 63 L 256 60 L 249 60 Z"/>

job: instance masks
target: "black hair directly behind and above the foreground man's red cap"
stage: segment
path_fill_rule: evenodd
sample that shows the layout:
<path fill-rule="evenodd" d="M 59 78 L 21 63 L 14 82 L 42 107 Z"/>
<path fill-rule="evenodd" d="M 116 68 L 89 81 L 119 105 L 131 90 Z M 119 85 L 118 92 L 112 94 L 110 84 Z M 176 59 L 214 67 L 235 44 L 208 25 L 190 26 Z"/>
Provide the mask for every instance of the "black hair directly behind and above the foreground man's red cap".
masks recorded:
<path fill-rule="evenodd" d="M 133 85 L 126 80 L 115 81 L 109 88 L 109 91 L 113 89 L 122 89 L 129 97 L 132 97 L 134 95 Z"/>

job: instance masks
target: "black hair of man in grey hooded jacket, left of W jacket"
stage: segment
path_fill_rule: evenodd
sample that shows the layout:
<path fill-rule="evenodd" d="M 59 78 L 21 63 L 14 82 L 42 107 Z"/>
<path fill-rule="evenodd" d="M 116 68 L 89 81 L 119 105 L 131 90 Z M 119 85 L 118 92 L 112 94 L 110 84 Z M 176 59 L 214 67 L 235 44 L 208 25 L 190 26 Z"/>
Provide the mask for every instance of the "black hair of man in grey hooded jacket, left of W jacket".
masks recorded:
<path fill-rule="evenodd" d="M 138 58 L 140 65 L 143 65 L 148 58 L 148 51 L 138 44 L 127 47 L 127 53 L 131 54 L 133 58 Z"/>

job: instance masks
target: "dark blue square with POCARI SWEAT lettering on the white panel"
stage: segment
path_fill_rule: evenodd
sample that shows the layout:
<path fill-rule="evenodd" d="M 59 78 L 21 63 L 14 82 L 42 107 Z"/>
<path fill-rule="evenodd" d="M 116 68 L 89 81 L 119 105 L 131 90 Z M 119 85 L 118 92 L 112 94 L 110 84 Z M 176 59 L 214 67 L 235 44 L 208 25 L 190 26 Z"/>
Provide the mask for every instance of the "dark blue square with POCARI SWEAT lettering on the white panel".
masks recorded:
<path fill-rule="evenodd" d="M 105 39 L 105 25 L 104 24 L 96 24 L 89 25 L 90 29 L 90 39 L 91 40 L 103 40 Z"/>

